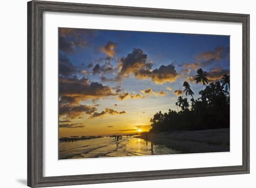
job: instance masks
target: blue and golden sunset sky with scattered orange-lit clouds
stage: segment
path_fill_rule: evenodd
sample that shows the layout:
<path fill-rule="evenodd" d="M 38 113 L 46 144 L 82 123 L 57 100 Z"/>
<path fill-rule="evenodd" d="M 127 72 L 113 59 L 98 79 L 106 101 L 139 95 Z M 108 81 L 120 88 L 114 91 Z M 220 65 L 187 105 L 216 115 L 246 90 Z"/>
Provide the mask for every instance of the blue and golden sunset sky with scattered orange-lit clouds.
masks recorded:
<path fill-rule="evenodd" d="M 148 131 L 177 111 L 184 81 L 199 97 L 199 68 L 210 82 L 229 74 L 229 36 L 60 28 L 60 137 Z"/>

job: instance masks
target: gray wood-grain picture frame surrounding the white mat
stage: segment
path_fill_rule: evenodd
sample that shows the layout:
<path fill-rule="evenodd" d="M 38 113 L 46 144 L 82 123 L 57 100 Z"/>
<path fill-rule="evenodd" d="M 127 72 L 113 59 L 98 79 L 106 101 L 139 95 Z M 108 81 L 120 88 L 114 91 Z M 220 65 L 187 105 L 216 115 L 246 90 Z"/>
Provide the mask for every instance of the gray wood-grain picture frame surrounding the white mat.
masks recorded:
<path fill-rule="evenodd" d="M 243 25 L 243 164 L 92 175 L 43 176 L 43 12 L 238 22 Z M 57 73 L 56 73 L 57 74 Z M 47 187 L 249 173 L 249 15 L 50 1 L 27 3 L 27 185 Z"/>

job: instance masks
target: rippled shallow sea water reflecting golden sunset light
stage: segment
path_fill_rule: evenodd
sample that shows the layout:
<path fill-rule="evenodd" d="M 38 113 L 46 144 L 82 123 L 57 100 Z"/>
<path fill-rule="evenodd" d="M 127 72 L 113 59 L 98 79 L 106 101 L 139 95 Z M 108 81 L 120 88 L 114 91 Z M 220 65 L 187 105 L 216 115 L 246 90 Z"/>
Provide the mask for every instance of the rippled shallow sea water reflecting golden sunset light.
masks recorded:
<path fill-rule="evenodd" d="M 149 156 L 176 153 L 179 152 L 165 145 L 125 136 L 119 143 L 115 142 L 115 138 L 110 137 L 59 143 L 59 159 Z"/>

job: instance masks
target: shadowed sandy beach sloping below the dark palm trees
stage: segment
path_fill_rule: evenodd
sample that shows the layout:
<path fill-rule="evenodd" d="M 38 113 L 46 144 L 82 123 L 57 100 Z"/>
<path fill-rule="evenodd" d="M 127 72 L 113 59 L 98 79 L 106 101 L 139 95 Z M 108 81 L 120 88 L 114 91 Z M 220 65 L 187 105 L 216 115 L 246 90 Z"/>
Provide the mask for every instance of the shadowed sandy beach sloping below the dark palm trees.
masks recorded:
<path fill-rule="evenodd" d="M 138 136 L 155 144 L 163 144 L 181 153 L 229 151 L 229 128 L 202 131 L 148 133 Z"/>

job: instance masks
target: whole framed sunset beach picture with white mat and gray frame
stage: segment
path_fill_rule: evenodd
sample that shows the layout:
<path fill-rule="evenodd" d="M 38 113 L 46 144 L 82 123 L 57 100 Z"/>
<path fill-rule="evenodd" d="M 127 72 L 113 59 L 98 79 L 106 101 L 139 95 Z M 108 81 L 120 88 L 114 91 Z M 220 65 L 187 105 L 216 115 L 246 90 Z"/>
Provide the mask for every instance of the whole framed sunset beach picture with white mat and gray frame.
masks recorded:
<path fill-rule="evenodd" d="M 249 15 L 27 13 L 29 187 L 249 173 Z"/>

